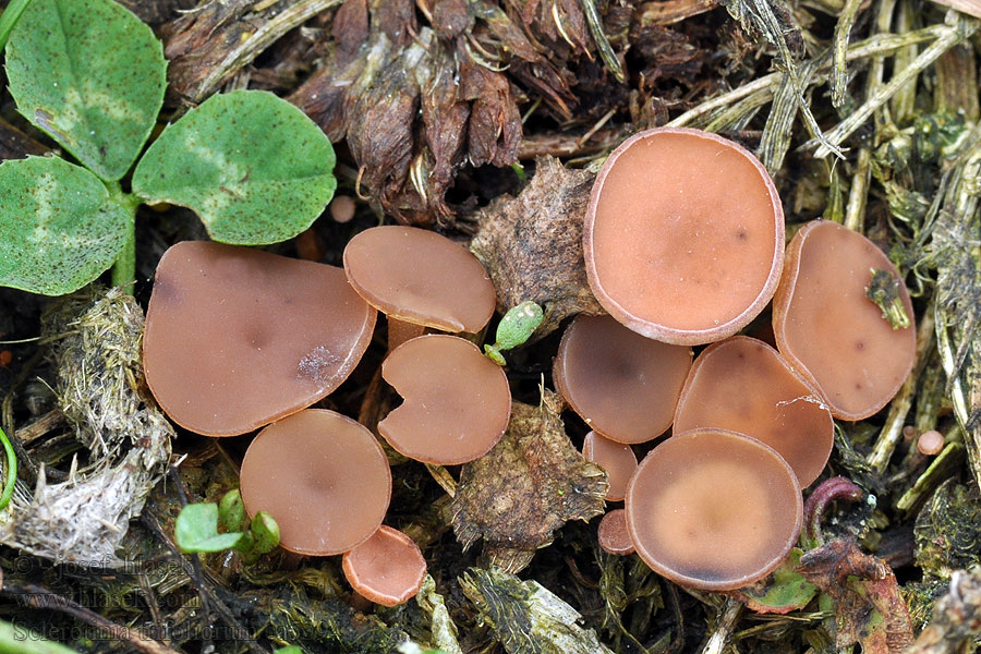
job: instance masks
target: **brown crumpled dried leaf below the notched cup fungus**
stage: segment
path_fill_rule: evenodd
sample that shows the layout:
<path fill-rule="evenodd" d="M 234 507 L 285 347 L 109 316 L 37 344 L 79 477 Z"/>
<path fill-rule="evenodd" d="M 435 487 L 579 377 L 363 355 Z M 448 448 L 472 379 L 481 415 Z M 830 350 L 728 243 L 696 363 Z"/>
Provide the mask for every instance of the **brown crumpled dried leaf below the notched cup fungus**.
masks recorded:
<path fill-rule="evenodd" d="M 606 473 L 569 441 L 560 411 L 561 399 L 544 389 L 538 407 L 514 402 L 507 434 L 460 476 L 457 540 L 467 549 L 483 538 L 484 555 L 508 572 L 528 566 L 567 521 L 604 511 Z"/>

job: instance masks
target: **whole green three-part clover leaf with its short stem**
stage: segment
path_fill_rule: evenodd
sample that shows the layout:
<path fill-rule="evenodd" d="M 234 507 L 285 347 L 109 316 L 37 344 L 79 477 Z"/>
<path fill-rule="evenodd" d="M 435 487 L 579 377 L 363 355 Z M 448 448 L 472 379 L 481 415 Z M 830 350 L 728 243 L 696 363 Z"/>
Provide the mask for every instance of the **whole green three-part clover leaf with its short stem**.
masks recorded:
<path fill-rule="evenodd" d="M 23 11 L 7 47 L 17 111 L 80 165 L 57 156 L 0 165 L 0 286 L 60 295 L 110 266 L 113 283 L 131 282 L 141 204 L 189 207 L 215 241 L 264 245 L 305 230 L 334 195 L 327 136 L 265 92 L 213 96 L 141 158 L 166 87 L 149 27 L 112 0 L 10 7 Z M 3 28 L 0 20 L 0 37 Z"/>

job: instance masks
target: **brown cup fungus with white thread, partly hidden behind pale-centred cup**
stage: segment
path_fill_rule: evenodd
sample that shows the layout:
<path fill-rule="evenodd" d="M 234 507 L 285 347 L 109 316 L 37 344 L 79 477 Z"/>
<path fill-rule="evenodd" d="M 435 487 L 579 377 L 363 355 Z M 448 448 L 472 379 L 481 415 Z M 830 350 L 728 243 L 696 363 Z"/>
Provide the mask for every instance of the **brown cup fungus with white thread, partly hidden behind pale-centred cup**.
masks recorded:
<path fill-rule="evenodd" d="M 779 353 L 737 336 L 708 346 L 695 359 L 674 428 L 719 427 L 758 438 L 775 449 L 809 486 L 834 445 L 831 412 L 816 390 Z"/>

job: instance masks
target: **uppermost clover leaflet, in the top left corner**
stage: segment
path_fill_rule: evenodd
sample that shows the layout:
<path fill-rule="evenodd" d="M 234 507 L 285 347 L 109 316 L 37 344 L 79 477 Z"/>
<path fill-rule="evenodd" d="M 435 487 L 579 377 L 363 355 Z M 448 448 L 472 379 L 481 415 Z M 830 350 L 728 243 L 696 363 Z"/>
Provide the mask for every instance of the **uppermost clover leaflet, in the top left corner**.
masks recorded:
<path fill-rule="evenodd" d="M 112 0 L 35 0 L 7 48 L 17 110 L 104 180 L 136 160 L 166 71 L 150 28 Z"/>

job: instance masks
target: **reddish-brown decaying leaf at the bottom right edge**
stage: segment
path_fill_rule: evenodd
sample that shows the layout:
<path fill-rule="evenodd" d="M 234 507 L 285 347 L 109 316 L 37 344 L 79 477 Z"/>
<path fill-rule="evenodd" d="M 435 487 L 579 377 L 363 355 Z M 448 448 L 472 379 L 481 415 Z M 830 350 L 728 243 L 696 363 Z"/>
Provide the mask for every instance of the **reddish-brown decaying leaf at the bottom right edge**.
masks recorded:
<path fill-rule="evenodd" d="M 837 647 L 861 643 L 862 654 L 891 654 L 912 642 L 896 576 L 853 540 L 837 538 L 808 552 L 798 571 L 834 602 Z"/>

